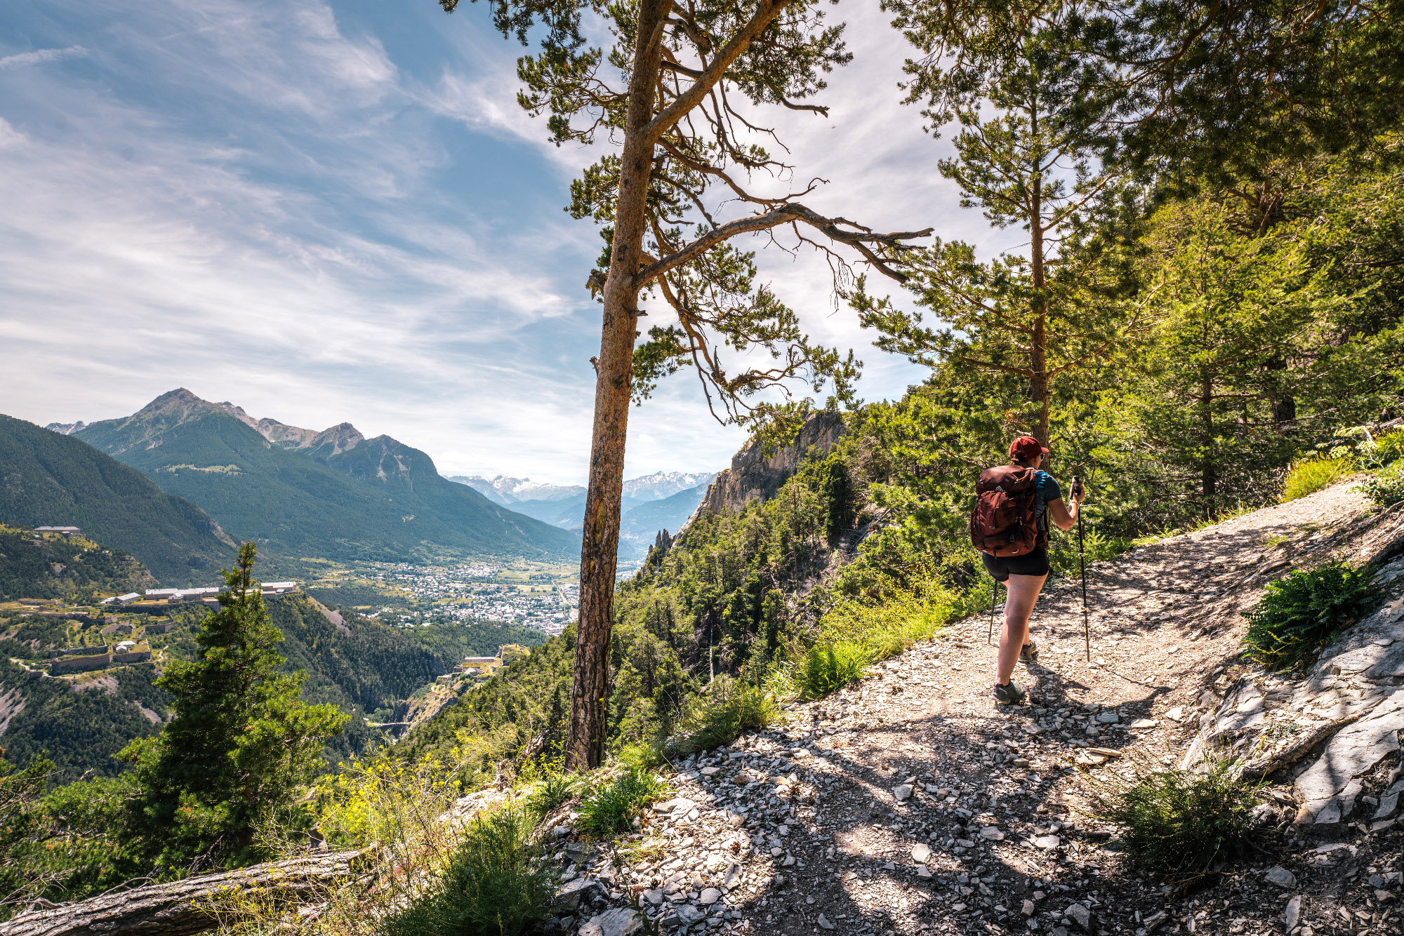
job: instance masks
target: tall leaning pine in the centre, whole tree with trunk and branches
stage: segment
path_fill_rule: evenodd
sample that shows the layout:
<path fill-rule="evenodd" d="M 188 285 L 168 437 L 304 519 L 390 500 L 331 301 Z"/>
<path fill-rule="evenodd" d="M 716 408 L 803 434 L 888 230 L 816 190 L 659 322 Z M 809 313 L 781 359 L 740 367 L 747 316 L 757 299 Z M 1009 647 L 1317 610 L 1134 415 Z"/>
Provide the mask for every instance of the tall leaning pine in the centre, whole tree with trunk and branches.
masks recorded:
<path fill-rule="evenodd" d="M 452 11 L 458 0 L 439 0 Z M 816 390 L 833 382 L 851 394 L 858 363 L 814 345 L 797 316 L 755 282 L 754 255 L 729 241 L 741 234 L 790 237 L 848 267 L 838 246 L 872 268 L 903 279 L 906 243 L 928 232 L 875 233 L 826 218 L 795 192 L 764 194 L 755 174 L 785 180 L 792 167 L 765 146 L 767 105 L 810 111 L 823 76 L 851 58 L 842 25 L 826 25 L 821 0 L 491 0 L 503 35 L 541 51 L 518 62 L 522 107 L 548 112 L 556 143 L 608 145 L 609 152 L 571 185 L 570 210 L 604 225 L 604 271 L 590 276 L 602 300 L 595 363 L 594 438 L 580 553 L 580 623 L 566 738 L 566 761 L 595 766 L 604 755 L 615 553 L 630 397 L 692 366 L 723 422 L 793 428 L 803 406 L 786 382 Z M 614 35 L 590 48 L 583 15 L 601 17 Z M 643 296 L 661 296 L 675 323 L 649 328 L 636 347 Z M 723 359 L 723 348 L 747 355 Z M 768 352 L 768 354 L 757 354 Z M 753 366 L 761 358 L 764 365 Z M 731 369 L 736 368 L 736 369 Z M 775 390 L 775 393 L 768 393 Z"/>

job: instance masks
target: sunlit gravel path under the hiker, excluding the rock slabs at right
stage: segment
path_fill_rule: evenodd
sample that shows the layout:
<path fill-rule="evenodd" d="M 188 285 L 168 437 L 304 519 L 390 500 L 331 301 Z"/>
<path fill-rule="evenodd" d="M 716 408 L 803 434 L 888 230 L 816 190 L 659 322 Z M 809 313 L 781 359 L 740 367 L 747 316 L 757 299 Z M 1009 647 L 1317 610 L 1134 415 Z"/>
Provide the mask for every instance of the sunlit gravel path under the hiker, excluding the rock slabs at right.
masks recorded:
<path fill-rule="evenodd" d="M 1056 584 L 1033 617 L 1042 665 L 1015 676 L 1031 704 L 994 706 L 988 622 L 962 622 L 793 706 L 786 731 L 685 763 L 680 797 L 640 835 L 663 848 L 619 864 L 581 856 L 581 880 L 598 877 L 615 905 L 633 892 L 665 929 L 692 933 L 1283 933 L 1299 892 L 1300 936 L 1398 933 L 1393 824 L 1346 828 L 1346 845 L 1325 852 L 1289 831 L 1261 862 L 1170 892 L 1080 813 L 1074 766 L 1178 762 L 1234 678 L 1241 610 L 1289 566 L 1353 549 L 1363 507 L 1337 486 L 1094 567 L 1091 662 L 1081 592 Z M 1273 824 L 1293 813 L 1279 796 Z M 1276 864 L 1302 880 L 1271 883 Z M 595 936 L 592 923 L 615 936 L 601 919 L 581 932 Z"/>

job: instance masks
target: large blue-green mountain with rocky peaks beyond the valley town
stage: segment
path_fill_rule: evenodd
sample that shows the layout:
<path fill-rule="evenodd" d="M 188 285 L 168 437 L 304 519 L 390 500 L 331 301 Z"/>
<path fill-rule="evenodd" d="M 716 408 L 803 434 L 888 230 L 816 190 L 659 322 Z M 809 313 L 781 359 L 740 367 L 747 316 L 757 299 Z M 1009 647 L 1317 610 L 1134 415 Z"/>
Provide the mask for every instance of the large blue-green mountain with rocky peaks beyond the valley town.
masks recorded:
<path fill-rule="evenodd" d="M 424 452 L 388 435 L 368 439 L 350 422 L 303 429 L 178 389 L 125 418 L 51 428 L 51 438 L 101 449 L 234 539 L 288 559 L 570 559 L 580 549 L 578 536 L 505 509 L 441 477 Z"/>

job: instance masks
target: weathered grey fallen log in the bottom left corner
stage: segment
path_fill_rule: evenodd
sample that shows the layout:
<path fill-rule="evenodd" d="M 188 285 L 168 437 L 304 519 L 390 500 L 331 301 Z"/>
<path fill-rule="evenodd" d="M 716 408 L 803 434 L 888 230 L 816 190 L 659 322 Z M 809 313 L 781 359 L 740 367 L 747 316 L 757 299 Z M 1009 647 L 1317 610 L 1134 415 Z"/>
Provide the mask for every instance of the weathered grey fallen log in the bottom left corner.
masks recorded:
<path fill-rule="evenodd" d="M 51 904 L 0 923 L 0 936 L 188 936 L 215 929 L 209 898 L 219 891 L 298 900 L 347 877 L 361 852 L 309 855 L 234 871 L 197 874 L 166 884 Z"/>

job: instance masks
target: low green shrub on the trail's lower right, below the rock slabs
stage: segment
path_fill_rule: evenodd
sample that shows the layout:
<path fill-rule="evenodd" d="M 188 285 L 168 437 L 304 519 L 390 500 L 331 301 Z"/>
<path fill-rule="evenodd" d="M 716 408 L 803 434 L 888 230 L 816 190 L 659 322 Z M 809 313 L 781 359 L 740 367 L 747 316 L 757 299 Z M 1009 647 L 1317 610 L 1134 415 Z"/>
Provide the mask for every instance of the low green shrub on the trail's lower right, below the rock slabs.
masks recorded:
<path fill-rule="evenodd" d="M 1130 779 L 1104 773 L 1094 780 L 1094 811 L 1120 827 L 1126 852 L 1153 874 L 1192 880 L 1219 857 L 1234 857 L 1248 842 L 1258 791 L 1227 763 L 1205 773 L 1140 770 Z"/>

